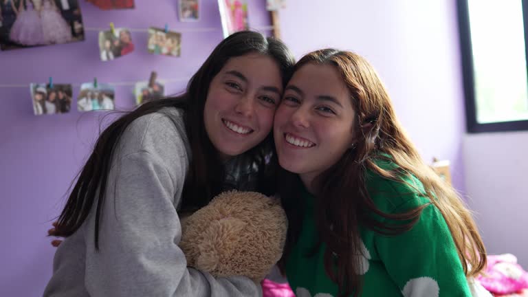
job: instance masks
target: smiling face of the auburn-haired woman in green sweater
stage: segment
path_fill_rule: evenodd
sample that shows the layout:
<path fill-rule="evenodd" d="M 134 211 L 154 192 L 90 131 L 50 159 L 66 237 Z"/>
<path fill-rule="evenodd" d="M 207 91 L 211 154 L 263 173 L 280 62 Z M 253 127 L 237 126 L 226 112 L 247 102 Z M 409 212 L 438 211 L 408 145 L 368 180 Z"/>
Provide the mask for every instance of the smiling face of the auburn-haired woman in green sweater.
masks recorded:
<path fill-rule="evenodd" d="M 333 65 L 308 63 L 289 81 L 274 121 L 279 163 L 306 186 L 354 142 L 351 94 Z"/>

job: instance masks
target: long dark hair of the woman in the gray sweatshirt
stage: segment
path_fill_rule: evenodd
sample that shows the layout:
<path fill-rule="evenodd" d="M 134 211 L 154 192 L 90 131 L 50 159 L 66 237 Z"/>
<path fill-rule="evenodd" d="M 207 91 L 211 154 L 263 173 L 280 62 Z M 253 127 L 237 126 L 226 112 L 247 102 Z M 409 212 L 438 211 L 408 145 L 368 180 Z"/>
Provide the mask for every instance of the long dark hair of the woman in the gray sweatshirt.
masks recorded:
<path fill-rule="evenodd" d="M 243 188 L 247 187 L 248 183 L 252 183 L 253 190 L 271 195 L 275 191 L 271 175 L 276 170 L 272 133 L 263 142 L 230 162 L 231 166 L 235 164 L 230 170 L 235 170 L 237 173 L 232 177 L 227 175 L 225 164 L 210 142 L 203 124 L 203 109 L 214 76 L 230 58 L 252 53 L 273 58 L 281 70 L 283 84 L 287 83 L 295 60 L 284 43 L 252 31 L 237 32 L 228 36 L 214 48 L 207 60 L 190 78 L 184 94 L 146 102 L 104 129 L 94 151 L 80 170 L 73 190 L 58 217 L 55 235 L 63 237 L 72 235 L 80 228 L 96 203 L 95 245 L 98 250 L 100 216 L 104 199 L 107 198 L 104 196 L 104 189 L 107 188 L 116 144 L 131 122 L 149 113 L 163 112 L 161 109 L 164 107 L 184 110 L 186 135 L 192 151 L 181 198 L 181 210 L 192 211 L 205 206 L 226 186 Z"/>

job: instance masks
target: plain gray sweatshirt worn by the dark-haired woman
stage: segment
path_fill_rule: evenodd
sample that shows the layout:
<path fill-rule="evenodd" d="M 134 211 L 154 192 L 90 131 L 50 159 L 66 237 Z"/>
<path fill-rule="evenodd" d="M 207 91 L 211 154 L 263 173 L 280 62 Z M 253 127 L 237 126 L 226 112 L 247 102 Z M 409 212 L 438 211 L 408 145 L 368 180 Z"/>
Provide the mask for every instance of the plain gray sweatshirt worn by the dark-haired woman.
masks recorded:
<path fill-rule="evenodd" d="M 181 111 L 167 108 L 124 132 L 106 188 L 99 248 L 95 206 L 58 247 L 44 296 L 262 296 L 249 278 L 213 278 L 187 267 L 177 206 L 190 149 Z"/>

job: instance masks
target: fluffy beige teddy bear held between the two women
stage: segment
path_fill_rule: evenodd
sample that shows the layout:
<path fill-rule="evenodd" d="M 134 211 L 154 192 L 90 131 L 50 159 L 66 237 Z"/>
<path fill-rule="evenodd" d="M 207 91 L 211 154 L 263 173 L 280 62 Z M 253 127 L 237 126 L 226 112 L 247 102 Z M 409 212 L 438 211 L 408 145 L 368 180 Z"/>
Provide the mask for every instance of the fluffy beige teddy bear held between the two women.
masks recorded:
<path fill-rule="evenodd" d="M 189 267 L 260 283 L 281 259 L 286 232 L 279 199 L 232 190 L 181 219 L 179 247 Z"/>

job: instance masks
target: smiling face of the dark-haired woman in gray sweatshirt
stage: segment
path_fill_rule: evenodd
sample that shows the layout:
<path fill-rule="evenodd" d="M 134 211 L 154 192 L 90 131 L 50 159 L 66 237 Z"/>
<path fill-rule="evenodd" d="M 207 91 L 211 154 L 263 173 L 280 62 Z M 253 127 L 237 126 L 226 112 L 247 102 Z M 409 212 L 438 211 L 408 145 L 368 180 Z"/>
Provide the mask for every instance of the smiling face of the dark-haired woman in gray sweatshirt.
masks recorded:
<path fill-rule="evenodd" d="M 281 101 L 282 77 L 269 56 L 230 58 L 212 79 L 203 119 L 209 139 L 224 158 L 250 150 L 270 133 Z"/>

